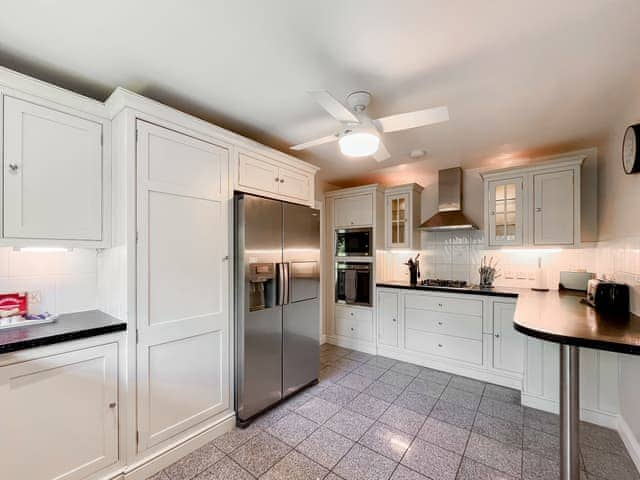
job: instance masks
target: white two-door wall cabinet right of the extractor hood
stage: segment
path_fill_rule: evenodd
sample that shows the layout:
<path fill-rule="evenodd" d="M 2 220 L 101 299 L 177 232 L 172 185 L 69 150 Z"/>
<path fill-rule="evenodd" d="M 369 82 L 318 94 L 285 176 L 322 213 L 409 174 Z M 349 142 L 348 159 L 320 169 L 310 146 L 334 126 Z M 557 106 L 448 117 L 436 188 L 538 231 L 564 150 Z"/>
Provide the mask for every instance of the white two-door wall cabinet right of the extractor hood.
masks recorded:
<path fill-rule="evenodd" d="M 483 174 L 489 247 L 578 246 L 583 157 Z"/>

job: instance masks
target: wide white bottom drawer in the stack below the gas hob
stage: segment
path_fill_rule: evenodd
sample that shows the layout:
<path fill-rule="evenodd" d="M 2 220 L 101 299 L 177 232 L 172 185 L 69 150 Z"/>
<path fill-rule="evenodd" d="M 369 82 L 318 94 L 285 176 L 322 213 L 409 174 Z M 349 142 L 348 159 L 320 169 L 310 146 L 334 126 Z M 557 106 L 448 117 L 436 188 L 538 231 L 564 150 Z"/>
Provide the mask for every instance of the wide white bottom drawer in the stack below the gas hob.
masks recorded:
<path fill-rule="evenodd" d="M 470 340 L 407 328 L 406 347 L 408 350 L 420 353 L 482 365 L 482 340 Z"/>

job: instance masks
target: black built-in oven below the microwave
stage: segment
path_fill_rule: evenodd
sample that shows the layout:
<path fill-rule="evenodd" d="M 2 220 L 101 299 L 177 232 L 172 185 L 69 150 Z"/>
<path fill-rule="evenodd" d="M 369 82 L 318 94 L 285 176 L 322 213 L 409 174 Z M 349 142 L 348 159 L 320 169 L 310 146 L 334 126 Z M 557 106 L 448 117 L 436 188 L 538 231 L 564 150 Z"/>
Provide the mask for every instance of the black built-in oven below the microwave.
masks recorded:
<path fill-rule="evenodd" d="M 336 263 L 336 303 L 372 305 L 373 264 L 364 262 Z"/>

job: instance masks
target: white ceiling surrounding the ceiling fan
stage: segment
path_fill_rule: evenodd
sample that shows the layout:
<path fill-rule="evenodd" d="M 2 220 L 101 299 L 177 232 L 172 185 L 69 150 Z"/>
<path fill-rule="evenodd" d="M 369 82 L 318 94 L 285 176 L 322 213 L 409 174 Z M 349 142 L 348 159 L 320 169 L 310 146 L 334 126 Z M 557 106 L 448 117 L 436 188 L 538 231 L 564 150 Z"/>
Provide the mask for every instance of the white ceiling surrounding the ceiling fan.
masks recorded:
<path fill-rule="evenodd" d="M 337 127 L 308 90 L 369 90 L 374 117 L 449 106 L 448 123 L 388 134 L 383 169 L 337 144 L 300 155 L 339 185 L 597 146 L 640 94 L 637 0 L 3 4 L 0 64 L 99 99 L 121 85 L 283 150 Z"/>

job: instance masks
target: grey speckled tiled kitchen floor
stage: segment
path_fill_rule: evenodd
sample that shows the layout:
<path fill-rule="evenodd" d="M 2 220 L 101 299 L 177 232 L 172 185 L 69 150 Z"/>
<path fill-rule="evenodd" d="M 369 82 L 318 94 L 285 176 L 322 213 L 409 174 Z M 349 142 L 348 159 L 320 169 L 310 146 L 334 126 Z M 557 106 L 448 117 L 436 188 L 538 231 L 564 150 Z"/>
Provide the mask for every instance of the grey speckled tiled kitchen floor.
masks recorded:
<path fill-rule="evenodd" d="M 153 480 L 553 480 L 558 417 L 519 392 L 323 345 L 320 384 Z M 613 430 L 581 428 L 583 480 L 639 480 Z"/>

